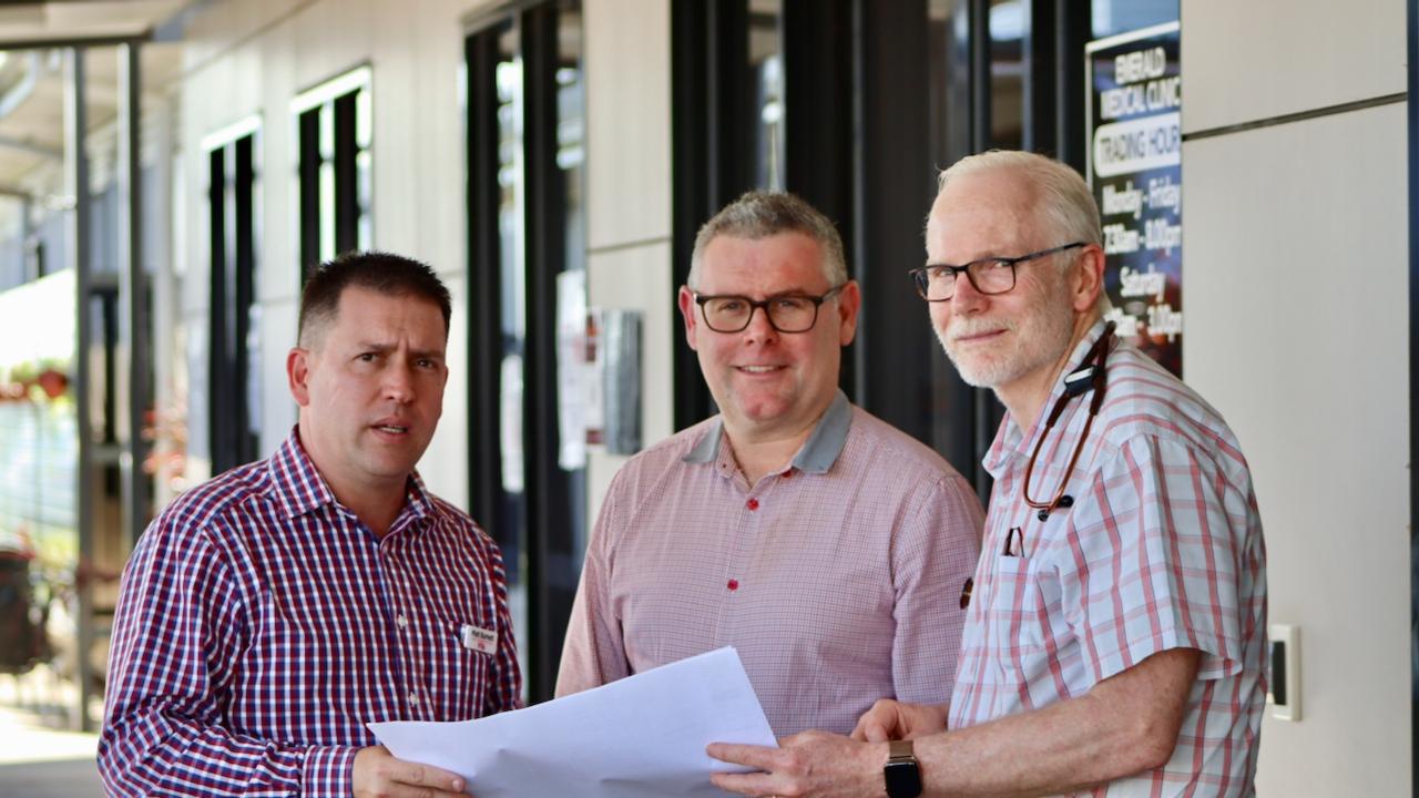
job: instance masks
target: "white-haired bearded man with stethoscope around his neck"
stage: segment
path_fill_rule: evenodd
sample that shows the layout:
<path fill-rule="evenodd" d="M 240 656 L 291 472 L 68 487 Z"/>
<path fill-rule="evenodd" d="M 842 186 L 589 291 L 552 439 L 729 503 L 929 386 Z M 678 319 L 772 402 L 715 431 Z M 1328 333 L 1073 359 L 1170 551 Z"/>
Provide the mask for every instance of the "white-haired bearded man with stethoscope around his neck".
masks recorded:
<path fill-rule="evenodd" d="M 1104 322 L 1084 180 L 1023 152 L 941 176 L 914 270 L 962 378 L 1009 413 L 949 704 L 853 738 L 711 745 L 745 795 L 1254 792 L 1266 548 L 1246 460 L 1200 396 Z M 893 740 L 888 743 L 888 740 Z"/>

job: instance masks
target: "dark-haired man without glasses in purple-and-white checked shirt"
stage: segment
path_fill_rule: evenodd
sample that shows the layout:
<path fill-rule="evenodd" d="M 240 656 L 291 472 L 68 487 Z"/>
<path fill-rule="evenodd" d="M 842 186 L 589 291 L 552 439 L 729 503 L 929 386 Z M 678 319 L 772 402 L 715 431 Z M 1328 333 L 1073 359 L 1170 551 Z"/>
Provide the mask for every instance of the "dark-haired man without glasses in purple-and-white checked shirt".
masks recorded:
<path fill-rule="evenodd" d="M 123 574 L 99 774 L 112 795 L 463 795 L 365 727 L 519 706 L 502 559 L 414 471 L 448 379 L 448 290 L 342 256 L 287 358 L 299 422 L 173 501 Z"/>

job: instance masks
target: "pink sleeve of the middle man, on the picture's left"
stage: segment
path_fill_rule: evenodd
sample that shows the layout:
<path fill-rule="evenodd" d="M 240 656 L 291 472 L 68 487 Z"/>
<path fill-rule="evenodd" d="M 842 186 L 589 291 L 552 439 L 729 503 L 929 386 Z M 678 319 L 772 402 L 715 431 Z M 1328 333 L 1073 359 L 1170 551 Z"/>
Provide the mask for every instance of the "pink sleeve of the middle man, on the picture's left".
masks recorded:
<path fill-rule="evenodd" d="M 586 547 L 582 582 L 576 588 L 576 601 L 572 602 L 572 618 L 562 647 L 562 666 L 556 676 L 558 697 L 630 676 L 620 619 L 616 618 L 609 592 L 610 538 L 622 525 L 617 511 L 620 481 L 620 474 L 612 480 Z"/>

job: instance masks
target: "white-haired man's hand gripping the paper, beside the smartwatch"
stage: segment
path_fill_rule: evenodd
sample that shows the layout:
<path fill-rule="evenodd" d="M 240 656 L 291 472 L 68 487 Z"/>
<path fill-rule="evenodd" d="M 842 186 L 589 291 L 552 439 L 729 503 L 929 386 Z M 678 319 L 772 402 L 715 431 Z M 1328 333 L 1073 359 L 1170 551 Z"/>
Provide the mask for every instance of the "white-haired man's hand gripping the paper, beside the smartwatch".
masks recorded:
<path fill-rule="evenodd" d="M 714 743 L 707 753 L 761 771 L 712 774 L 710 781 L 719 789 L 783 798 L 876 798 L 883 792 L 887 763 L 885 745 L 826 731 L 785 737 L 778 748 Z"/>

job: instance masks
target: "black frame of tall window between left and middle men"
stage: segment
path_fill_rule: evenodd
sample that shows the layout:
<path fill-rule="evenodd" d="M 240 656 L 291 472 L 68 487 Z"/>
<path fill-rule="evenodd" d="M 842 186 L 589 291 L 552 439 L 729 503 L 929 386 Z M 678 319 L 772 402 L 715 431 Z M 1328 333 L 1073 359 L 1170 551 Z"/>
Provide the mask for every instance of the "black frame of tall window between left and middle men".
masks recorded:
<path fill-rule="evenodd" d="M 562 643 L 580 576 L 576 524 L 585 514 L 585 471 L 559 464 L 561 420 L 556 339 L 556 278 L 568 267 L 566 193 L 558 166 L 559 26 L 572 0 L 519 4 L 470 30 L 467 64 L 467 230 L 470 504 L 473 515 L 504 547 L 509 559 L 526 558 L 528 700 L 548 700 L 556 687 Z M 498 37 L 512 33 L 522 60 L 525 348 L 522 352 L 522 440 L 525 520 L 512 517 L 502 487 L 502 243 L 498 226 Z M 525 524 L 525 537 L 518 540 Z M 585 535 L 580 535 L 585 537 Z M 518 562 L 507 562 L 508 571 Z"/>

